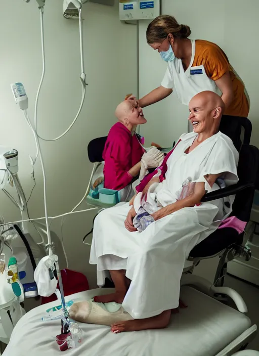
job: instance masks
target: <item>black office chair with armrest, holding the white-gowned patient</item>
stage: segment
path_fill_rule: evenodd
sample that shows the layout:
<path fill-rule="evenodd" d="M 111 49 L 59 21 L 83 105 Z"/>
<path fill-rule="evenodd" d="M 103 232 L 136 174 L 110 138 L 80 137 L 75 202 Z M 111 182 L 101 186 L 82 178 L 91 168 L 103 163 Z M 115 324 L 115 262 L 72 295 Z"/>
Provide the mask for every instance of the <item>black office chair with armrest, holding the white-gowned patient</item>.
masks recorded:
<path fill-rule="evenodd" d="M 239 153 L 237 173 L 239 181 L 237 184 L 206 194 L 202 202 L 208 202 L 230 195 L 236 195 L 230 216 L 248 222 L 255 184 L 258 176 L 259 150 L 251 145 L 242 145 Z M 192 271 L 201 259 L 211 258 L 220 255 L 220 262 L 214 278 L 215 286 L 223 286 L 227 273 L 227 263 L 236 257 L 244 257 L 249 260 L 251 252 L 245 246 L 244 233 L 240 235 L 233 228 L 223 228 L 214 231 L 205 240 L 196 245 L 189 255 L 189 260 L 193 261 Z M 191 272 L 192 272 L 191 271 Z"/>

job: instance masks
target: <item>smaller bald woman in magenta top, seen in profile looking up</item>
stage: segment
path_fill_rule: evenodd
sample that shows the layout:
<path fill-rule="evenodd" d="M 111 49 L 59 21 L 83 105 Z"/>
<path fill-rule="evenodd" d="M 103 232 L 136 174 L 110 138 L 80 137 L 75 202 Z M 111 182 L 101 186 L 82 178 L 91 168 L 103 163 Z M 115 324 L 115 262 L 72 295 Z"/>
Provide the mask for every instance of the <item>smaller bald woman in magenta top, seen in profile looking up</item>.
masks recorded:
<path fill-rule="evenodd" d="M 136 101 L 124 100 L 117 106 L 115 116 L 118 122 L 111 127 L 103 151 L 104 188 L 121 191 L 121 200 L 128 201 L 134 195 L 131 184 L 140 173 L 145 153 L 135 130 L 147 120 Z M 155 157 L 159 156 L 161 153 L 157 150 Z"/>

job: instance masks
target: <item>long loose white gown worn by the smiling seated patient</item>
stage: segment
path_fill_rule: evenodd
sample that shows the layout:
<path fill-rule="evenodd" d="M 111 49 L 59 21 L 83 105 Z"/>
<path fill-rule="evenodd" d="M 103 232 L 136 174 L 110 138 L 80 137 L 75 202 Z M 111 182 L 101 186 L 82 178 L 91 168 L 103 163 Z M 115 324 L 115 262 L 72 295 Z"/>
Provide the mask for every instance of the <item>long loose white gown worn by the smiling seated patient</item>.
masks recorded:
<path fill-rule="evenodd" d="M 186 179 L 205 182 L 204 175 L 225 173 L 227 186 L 237 183 L 238 152 L 232 141 L 218 132 L 193 151 L 185 151 L 196 133 L 182 135 L 167 161 L 165 180 L 157 199 L 166 206 L 176 201 L 176 192 Z M 153 317 L 179 305 L 180 279 L 192 248 L 215 231 L 231 212 L 234 196 L 223 209 L 223 199 L 186 207 L 167 215 L 142 233 L 129 232 L 124 220 L 128 203 L 102 211 L 95 219 L 90 263 L 97 264 L 98 285 L 104 284 L 107 270 L 126 270 L 132 283 L 122 306 L 135 319 Z M 224 204 L 225 205 L 225 204 Z"/>

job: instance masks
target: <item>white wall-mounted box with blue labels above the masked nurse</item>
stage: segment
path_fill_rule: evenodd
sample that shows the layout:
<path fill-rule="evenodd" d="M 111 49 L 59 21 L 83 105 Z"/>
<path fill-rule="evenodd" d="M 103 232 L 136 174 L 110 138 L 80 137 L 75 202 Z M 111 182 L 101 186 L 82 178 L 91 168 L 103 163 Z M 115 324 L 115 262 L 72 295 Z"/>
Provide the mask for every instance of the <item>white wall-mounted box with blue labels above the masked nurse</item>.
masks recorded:
<path fill-rule="evenodd" d="M 119 19 L 148 20 L 160 15 L 160 0 L 119 0 Z"/>

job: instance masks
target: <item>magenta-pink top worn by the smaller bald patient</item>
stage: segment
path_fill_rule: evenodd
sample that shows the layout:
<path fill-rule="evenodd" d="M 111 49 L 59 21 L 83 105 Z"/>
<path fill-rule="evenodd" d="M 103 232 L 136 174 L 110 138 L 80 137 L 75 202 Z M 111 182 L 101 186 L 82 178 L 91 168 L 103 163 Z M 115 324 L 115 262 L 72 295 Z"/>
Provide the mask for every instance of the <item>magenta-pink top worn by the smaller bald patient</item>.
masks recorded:
<path fill-rule="evenodd" d="M 141 160 L 144 152 L 136 135 L 132 136 L 121 122 L 115 123 L 103 151 L 104 188 L 120 190 L 130 184 L 133 176 L 128 170 Z"/>

